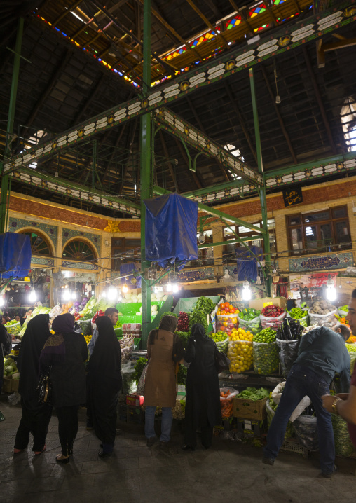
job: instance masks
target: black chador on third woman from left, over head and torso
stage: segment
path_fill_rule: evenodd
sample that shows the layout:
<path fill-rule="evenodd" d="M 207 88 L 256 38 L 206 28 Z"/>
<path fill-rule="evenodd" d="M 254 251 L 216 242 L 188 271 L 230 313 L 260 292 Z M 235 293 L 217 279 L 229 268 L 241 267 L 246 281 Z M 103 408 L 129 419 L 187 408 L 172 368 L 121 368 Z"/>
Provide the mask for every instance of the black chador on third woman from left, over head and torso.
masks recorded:
<path fill-rule="evenodd" d="M 88 370 L 95 375 L 104 375 L 105 378 L 121 379 L 121 347 L 111 319 L 100 316 L 95 323 L 99 335 L 89 360 Z"/>

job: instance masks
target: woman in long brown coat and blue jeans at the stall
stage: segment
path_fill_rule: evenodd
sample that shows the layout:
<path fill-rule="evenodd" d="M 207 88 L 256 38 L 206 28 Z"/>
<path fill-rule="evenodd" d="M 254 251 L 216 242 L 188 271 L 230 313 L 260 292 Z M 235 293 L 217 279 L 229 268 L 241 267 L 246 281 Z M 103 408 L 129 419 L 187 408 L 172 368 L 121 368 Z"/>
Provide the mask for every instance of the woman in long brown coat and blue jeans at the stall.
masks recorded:
<path fill-rule="evenodd" d="M 162 407 L 160 447 L 167 446 L 172 428 L 172 407 L 177 397 L 177 362 L 183 358 L 184 347 L 177 334 L 178 320 L 175 316 L 164 316 L 160 326 L 149 333 L 147 343 L 146 382 L 144 385 L 145 423 L 144 433 L 147 447 L 156 442 L 154 418 L 156 407 Z"/>

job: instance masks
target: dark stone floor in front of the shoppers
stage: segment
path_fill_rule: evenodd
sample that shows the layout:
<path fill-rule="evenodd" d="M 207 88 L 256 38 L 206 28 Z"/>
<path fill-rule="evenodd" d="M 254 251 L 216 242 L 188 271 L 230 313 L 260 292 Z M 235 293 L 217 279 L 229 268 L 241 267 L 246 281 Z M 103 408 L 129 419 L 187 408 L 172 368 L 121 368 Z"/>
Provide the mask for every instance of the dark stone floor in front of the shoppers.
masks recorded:
<path fill-rule="evenodd" d="M 13 457 L 21 409 L 1 395 L 0 410 L 6 418 L 0 422 L 0 503 L 355 503 L 355 460 L 338 459 L 338 474 L 329 480 L 318 476 L 317 455 L 280 453 L 269 467 L 261 463 L 261 448 L 219 437 L 210 450 L 186 453 L 178 428 L 164 452 L 146 447 L 142 427 L 121 423 L 114 456 L 100 460 L 99 441 L 85 429 L 85 411 L 70 464 L 55 462 L 60 453 L 55 416 L 46 453 L 34 457 L 28 450 Z"/>

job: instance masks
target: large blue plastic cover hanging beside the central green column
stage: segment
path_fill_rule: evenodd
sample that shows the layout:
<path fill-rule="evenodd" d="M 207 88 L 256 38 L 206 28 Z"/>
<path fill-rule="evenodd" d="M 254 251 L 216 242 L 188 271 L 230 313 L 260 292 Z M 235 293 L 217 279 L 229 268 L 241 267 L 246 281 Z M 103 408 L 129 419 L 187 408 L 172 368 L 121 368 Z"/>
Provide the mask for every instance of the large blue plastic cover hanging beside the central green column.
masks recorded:
<path fill-rule="evenodd" d="M 144 201 L 146 205 L 146 260 L 165 267 L 175 261 L 198 259 L 196 228 L 198 202 L 178 194 L 161 195 Z"/>

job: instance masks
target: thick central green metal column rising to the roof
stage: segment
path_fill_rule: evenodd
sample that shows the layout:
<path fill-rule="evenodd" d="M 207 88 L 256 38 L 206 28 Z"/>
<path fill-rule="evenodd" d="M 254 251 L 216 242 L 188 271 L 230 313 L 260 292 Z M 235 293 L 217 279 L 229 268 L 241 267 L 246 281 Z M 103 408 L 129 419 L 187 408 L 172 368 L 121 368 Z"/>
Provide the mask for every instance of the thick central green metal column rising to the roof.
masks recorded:
<path fill-rule="evenodd" d="M 151 88 L 151 0 L 144 0 L 144 68 L 143 93 L 147 95 Z M 142 348 L 147 347 L 147 338 L 151 329 L 151 286 L 144 271 L 149 267 L 145 256 L 146 207 L 144 199 L 151 198 L 151 114 L 141 116 L 141 260 L 142 260 Z"/>

